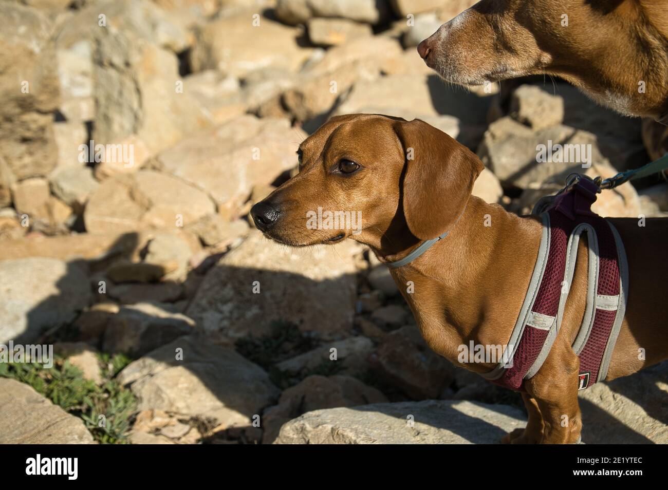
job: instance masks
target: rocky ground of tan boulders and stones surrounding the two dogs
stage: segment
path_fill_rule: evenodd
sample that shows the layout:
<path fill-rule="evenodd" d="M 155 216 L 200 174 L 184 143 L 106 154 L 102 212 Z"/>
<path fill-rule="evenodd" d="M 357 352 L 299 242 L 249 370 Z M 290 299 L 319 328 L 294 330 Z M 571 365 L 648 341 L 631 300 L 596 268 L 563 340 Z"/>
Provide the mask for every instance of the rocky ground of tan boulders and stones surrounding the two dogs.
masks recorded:
<path fill-rule="evenodd" d="M 561 81 L 442 83 L 415 45 L 470 3 L 0 2 L 0 344 L 57 354 L 0 363 L 0 443 L 493 443 L 521 427 L 516 394 L 426 346 L 368 250 L 292 250 L 248 220 L 335 114 L 428 121 L 482 158 L 474 194 L 513 212 L 582 170 L 536 164 L 548 140 L 591 145 L 592 176 L 646 163 L 639 120 Z M 648 178 L 595 209 L 664 216 L 668 193 Z M 667 391 L 663 364 L 583 392 L 584 441 L 668 442 Z"/>

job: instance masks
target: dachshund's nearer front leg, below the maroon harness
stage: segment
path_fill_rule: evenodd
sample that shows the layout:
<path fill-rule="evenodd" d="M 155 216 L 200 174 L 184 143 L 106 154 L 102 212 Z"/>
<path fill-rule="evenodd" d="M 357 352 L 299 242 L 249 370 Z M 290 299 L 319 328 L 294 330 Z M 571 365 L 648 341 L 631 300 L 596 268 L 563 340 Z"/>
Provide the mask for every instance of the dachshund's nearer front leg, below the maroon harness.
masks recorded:
<path fill-rule="evenodd" d="M 580 437 L 579 366 L 580 360 L 570 346 L 557 339 L 540 371 L 524 385 L 535 397 L 542 415 L 542 444 L 570 444 Z"/>

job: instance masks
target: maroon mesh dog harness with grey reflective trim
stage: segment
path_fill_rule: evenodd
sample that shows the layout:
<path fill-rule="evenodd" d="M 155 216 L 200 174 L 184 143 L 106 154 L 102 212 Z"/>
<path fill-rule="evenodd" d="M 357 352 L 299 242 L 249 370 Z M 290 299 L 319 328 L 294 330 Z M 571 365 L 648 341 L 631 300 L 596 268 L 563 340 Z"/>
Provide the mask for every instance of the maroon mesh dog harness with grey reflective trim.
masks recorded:
<path fill-rule="evenodd" d="M 517 391 L 547 358 L 561 326 L 575 268 L 578 242 L 589 238 L 587 306 L 572 344 L 580 358 L 578 389 L 607 376 L 627 301 L 628 267 L 614 226 L 591 211 L 597 185 L 581 177 L 540 213 L 543 232 L 524 304 L 510 335 L 504 360 L 484 378 Z"/>

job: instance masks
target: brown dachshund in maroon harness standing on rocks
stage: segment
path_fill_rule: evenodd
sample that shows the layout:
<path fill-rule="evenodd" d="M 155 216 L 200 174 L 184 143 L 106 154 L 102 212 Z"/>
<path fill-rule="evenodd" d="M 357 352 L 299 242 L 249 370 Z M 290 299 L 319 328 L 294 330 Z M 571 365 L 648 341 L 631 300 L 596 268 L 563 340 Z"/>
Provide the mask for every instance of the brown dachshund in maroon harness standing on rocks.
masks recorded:
<path fill-rule="evenodd" d="M 333 117 L 298 154 L 299 174 L 253 206 L 256 226 L 290 246 L 352 238 L 384 263 L 448 230 L 444 240 L 391 274 L 433 350 L 470 371 L 491 371 L 494 362 L 458 362 L 460 346 L 508 342 L 538 256 L 538 218 L 516 216 L 472 196 L 480 160 L 418 119 Z M 322 210 L 361 213 L 361 226 L 309 226 L 318 208 L 323 215 Z M 647 219 L 644 228 L 635 219 L 611 221 L 623 239 L 630 272 L 626 315 L 607 380 L 668 357 L 668 219 Z M 574 443 L 580 436 L 579 360 L 571 349 L 587 296 L 583 240 L 579 246 L 562 328 L 540 371 L 525 383 L 528 424 L 504 442 Z"/>

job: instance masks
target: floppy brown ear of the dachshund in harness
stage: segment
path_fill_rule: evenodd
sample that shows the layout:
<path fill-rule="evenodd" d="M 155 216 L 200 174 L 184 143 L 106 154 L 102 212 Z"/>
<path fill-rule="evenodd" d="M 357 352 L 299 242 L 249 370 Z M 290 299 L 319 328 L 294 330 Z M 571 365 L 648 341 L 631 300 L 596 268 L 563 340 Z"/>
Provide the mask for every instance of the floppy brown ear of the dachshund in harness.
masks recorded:
<path fill-rule="evenodd" d="M 397 121 L 403 145 L 403 214 L 421 240 L 436 238 L 459 218 L 484 168 L 464 145 L 420 119 Z"/>

